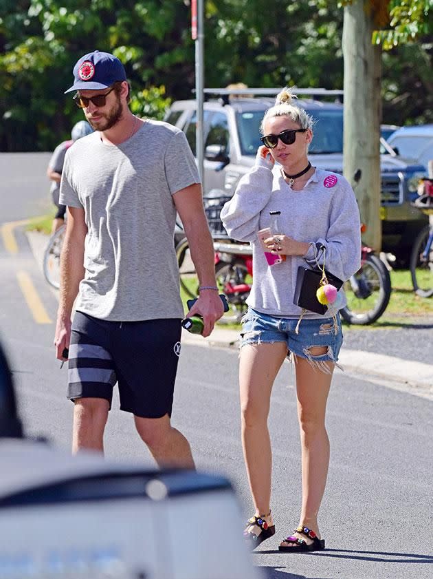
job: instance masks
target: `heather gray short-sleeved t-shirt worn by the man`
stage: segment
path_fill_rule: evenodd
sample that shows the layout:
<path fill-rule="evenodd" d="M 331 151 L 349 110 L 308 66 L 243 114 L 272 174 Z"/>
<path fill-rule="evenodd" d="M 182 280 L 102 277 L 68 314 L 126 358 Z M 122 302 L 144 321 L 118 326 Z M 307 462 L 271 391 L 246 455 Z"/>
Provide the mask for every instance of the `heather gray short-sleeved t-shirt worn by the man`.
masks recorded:
<path fill-rule="evenodd" d="M 88 228 L 77 310 L 124 322 L 183 317 L 173 194 L 198 182 L 184 133 L 168 123 L 146 120 L 120 145 L 95 132 L 69 149 L 60 203 L 83 208 Z"/>

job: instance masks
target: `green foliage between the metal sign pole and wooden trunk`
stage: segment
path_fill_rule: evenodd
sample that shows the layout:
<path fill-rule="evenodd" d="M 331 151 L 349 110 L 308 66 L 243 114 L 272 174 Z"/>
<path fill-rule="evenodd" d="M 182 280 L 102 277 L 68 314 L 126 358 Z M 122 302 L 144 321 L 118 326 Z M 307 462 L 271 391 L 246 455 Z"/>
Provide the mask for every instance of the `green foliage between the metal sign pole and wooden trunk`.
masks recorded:
<path fill-rule="evenodd" d="M 225 0 L 216 9 L 208 2 L 206 84 L 341 87 L 342 14 L 332 4 Z"/>

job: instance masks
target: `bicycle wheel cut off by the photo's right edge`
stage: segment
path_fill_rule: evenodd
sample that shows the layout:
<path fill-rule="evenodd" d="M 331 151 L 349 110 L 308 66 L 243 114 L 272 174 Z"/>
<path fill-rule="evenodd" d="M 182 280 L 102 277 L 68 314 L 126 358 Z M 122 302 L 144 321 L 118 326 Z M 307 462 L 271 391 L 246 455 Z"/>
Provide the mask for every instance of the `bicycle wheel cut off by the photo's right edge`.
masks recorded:
<path fill-rule="evenodd" d="M 428 225 L 422 229 L 414 242 L 410 255 L 410 275 L 414 291 L 421 297 L 433 295 L 433 229 Z M 427 244 L 430 246 L 427 247 Z M 423 255 L 427 249 L 427 255 Z"/>

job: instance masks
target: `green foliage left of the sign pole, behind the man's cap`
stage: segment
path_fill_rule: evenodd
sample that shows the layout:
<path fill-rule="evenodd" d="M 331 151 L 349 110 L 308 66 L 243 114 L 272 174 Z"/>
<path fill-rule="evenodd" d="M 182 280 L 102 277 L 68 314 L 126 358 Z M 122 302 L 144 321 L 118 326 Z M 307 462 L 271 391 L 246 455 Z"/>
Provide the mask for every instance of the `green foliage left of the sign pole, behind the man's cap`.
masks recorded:
<path fill-rule="evenodd" d="M 188 8 L 173 0 L 2 0 L 0 151 L 50 150 L 69 136 L 82 112 L 63 93 L 96 48 L 124 63 L 134 112 L 162 118 L 164 86 L 189 96 L 194 82 L 188 27 Z"/>

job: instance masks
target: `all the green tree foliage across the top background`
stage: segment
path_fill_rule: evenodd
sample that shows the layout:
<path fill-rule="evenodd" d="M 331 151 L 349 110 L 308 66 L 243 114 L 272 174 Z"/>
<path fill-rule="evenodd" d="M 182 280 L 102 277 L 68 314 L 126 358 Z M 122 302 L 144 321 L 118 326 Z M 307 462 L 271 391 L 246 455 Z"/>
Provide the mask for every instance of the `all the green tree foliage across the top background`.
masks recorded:
<path fill-rule="evenodd" d="M 423 39 L 432 1 L 392 1 L 393 30 L 412 34 L 417 26 Z M 170 101 L 191 98 L 189 4 L 1 0 L 0 151 L 51 150 L 69 136 L 82 112 L 64 91 L 74 63 L 96 48 L 124 63 L 136 114 L 162 118 Z M 205 84 L 342 88 L 342 21 L 337 0 L 206 0 Z M 394 36 L 389 41 L 395 45 Z M 431 46 L 422 43 L 384 54 L 384 122 L 433 120 L 431 58 Z"/>

